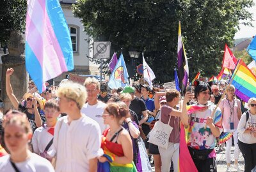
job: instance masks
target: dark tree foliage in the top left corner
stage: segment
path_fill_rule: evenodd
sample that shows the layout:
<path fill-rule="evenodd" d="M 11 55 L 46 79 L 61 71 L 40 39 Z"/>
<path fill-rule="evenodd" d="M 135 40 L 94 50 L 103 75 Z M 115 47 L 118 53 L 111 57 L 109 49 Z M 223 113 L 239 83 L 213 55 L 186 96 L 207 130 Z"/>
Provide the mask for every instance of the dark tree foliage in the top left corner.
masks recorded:
<path fill-rule="evenodd" d="M 1 0 L 0 43 L 6 45 L 12 31 L 25 31 L 26 11 L 26 0 Z"/>

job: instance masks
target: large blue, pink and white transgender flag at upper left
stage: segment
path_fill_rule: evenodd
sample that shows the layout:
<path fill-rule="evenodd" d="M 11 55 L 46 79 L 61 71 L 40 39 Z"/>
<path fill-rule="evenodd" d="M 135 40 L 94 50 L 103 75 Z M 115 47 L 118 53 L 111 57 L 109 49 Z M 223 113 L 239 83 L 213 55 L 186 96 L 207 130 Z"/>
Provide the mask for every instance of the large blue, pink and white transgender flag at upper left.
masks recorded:
<path fill-rule="evenodd" d="M 68 25 L 58 0 L 28 0 L 26 70 L 39 92 L 45 82 L 74 69 Z"/>

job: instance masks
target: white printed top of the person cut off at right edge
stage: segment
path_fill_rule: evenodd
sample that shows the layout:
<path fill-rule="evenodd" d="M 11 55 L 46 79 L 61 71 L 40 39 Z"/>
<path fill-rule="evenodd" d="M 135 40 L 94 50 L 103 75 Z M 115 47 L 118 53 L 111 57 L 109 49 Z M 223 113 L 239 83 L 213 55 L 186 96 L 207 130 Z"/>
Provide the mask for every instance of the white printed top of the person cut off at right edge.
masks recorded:
<path fill-rule="evenodd" d="M 240 140 L 243 143 L 247 144 L 253 144 L 256 143 L 256 138 L 252 136 L 250 133 L 244 133 L 246 129 L 250 129 L 254 132 L 256 132 L 256 115 L 252 115 L 249 112 L 249 118 L 246 122 L 246 112 L 243 113 L 241 119 L 238 123 L 238 140 Z"/>

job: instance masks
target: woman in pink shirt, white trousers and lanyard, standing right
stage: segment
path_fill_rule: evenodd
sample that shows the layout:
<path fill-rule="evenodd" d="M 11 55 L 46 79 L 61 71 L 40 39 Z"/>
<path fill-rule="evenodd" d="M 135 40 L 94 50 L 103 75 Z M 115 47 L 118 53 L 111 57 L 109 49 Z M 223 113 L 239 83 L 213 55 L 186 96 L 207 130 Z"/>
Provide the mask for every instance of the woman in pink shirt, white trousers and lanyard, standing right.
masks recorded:
<path fill-rule="evenodd" d="M 239 171 L 238 158 L 240 150 L 238 147 L 238 136 L 237 136 L 237 125 L 239 119 L 241 118 L 241 101 L 236 98 L 234 85 L 227 87 L 227 97 L 221 99 L 219 108 L 222 113 L 222 127 L 223 132 L 233 133 L 234 145 L 235 145 L 235 164 L 234 168 Z M 226 151 L 225 157 L 227 162 L 227 171 L 231 171 L 230 161 L 231 161 L 231 147 L 232 147 L 232 138 L 226 141 Z"/>

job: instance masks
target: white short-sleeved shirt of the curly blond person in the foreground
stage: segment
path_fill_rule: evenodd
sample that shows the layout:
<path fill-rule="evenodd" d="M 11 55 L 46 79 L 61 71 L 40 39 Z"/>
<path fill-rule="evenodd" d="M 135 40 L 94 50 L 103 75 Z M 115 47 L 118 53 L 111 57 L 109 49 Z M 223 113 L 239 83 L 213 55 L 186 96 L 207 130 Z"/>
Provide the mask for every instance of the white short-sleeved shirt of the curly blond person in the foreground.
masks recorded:
<path fill-rule="evenodd" d="M 67 116 L 61 117 L 54 129 L 52 149 L 57 152 L 56 172 L 89 171 L 89 160 L 98 157 L 100 142 L 100 127 L 92 118 L 83 114 L 68 125 Z"/>

